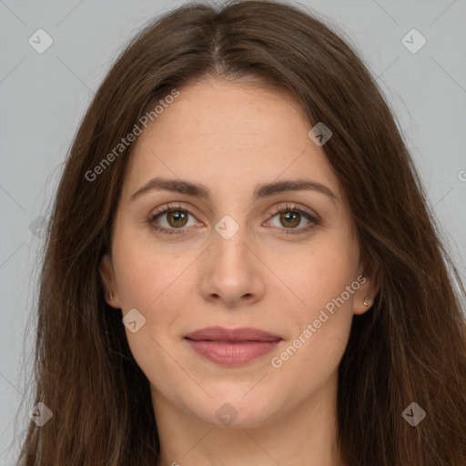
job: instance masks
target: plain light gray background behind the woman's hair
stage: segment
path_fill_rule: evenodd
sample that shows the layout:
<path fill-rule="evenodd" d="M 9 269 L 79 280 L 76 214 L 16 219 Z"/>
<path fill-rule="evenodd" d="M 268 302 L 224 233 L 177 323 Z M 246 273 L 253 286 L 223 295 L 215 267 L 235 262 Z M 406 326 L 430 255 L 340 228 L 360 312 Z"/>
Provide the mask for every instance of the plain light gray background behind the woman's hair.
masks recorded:
<path fill-rule="evenodd" d="M 41 216 L 66 152 L 117 52 L 149 18 L 184 3 L 0 0 L 0 465 L 14 463 L 18 445 L 10 444 L 32 408 L 25 377 L 34 328 L 25 329 L 34 324 Z M 464 276 L 466 1 L 301 4 L 339 25 L 379 76 Z M 54 40 L 43 54 L 28 43 L 39 28 Z M 427 39 L 415 54 L 401 42 L 412 28 Z"/>

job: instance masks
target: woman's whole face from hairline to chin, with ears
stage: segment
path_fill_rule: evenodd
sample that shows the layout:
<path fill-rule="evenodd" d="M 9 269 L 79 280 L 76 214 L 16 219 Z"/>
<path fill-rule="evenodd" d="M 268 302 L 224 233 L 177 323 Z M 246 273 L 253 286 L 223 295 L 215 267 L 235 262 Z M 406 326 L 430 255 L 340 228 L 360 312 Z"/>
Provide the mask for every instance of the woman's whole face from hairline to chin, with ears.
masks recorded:
<path fill-rule="evenodd" d="M 156 416 L 170 405 L 264 425 L 335 398 L 351 319 L 375 289 L 299 106 L 239 83 L 178 90 L 128 161 L 101 263 L 107 302 L 122 309 Z M 309 186 L 277 185 L 298 179 Z"/>

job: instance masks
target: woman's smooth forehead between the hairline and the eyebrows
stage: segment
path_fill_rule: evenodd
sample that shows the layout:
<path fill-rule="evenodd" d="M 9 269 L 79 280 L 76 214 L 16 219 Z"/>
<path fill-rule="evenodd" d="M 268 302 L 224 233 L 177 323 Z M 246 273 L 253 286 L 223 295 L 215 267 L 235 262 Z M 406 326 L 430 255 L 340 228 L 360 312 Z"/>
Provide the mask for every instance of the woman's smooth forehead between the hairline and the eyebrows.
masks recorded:
<path fill-rule="evenodd" d="M 216 80 L 178 92 L 137 137 L 124 191 L 133 193 L 157 176 L 230 193 L 280 177 L 307 177 L 339 193 L 324 151 L 309 138 L 309 122 L 288 94 Z"/>

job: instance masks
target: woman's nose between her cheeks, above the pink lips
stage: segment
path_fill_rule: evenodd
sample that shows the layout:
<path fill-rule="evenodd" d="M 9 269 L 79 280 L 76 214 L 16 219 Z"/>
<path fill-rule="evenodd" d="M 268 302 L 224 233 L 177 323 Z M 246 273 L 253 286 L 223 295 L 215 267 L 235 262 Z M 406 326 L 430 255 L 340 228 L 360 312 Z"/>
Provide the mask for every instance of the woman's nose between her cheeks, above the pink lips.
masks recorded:
<path fill-rule="evenodd" d="M 200 292 L 208 301 L 234 309 L 251 305 L 264 296 L 267 268 L 246 228 L 239 228 L 231 238 L 213 231 L 212 242 L 199 265 Z"/>

